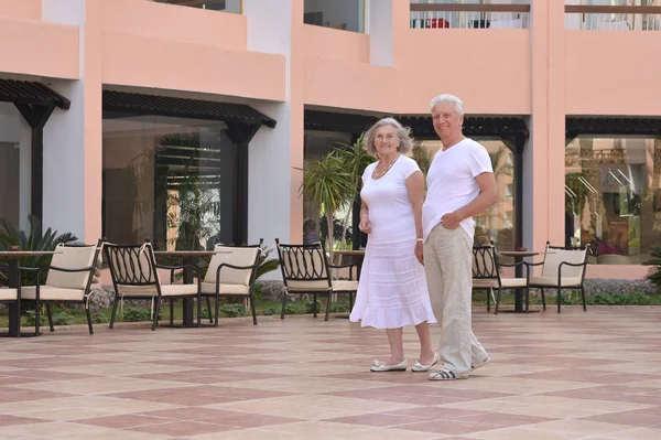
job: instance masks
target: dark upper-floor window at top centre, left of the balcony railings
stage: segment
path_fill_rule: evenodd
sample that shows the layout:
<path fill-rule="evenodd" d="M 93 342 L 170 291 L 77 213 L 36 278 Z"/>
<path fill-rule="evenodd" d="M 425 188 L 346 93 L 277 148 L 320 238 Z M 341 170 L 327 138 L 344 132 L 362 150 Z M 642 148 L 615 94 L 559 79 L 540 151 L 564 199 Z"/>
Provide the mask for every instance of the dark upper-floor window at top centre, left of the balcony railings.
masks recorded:
<path fill-rule="evenodd" d="M 303 22 L 365 32 L 365 0 L 305 0 Z"/>

